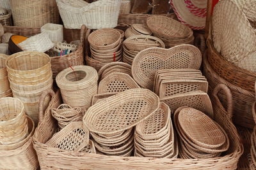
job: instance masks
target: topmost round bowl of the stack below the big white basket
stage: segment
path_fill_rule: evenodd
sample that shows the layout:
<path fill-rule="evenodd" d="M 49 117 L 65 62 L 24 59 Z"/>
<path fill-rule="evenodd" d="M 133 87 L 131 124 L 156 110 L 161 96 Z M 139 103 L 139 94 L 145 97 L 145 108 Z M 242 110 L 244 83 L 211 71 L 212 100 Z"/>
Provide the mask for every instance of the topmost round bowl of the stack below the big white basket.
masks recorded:
<path fill-rule="evenodd" d="M 116 29 L 100 29 L 88 36 L 90 46 L 97 50 L 110 50 L 121 41 L 121 34 Z"/>

